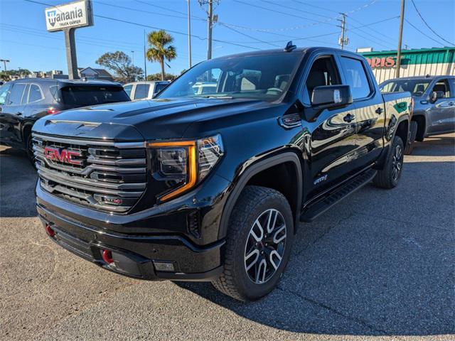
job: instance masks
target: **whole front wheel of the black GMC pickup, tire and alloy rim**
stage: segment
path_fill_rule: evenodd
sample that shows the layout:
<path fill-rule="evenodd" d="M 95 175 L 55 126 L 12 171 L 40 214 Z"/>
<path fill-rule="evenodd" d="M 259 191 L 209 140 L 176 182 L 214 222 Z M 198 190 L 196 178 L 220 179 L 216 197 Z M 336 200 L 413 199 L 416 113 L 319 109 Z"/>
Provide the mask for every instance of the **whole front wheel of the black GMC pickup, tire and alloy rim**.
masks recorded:
<path fill-rule="evenodd" d="M 225 268 L 213 286 L 237 300 L 255 301 L 277 286 L 289 260 L 291 207 L 277 190 L 247 186 L 232 210 L 229 228 Z"/>

